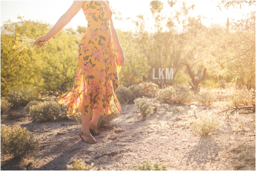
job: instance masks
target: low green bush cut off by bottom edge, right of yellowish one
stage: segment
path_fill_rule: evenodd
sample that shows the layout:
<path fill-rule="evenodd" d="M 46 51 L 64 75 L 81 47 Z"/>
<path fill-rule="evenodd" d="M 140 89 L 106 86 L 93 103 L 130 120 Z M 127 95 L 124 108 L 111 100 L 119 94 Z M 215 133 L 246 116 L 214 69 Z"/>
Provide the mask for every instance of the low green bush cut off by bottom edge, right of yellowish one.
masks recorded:
<path fill-rule="evenodd" d="M 167 170 L 164 164 L 161 165 L 158 162 L 153 165 L 151 162 L 144 160 L 143 163 L 144 165 L 136 164 L 136 168 L 133 170 Z"/>

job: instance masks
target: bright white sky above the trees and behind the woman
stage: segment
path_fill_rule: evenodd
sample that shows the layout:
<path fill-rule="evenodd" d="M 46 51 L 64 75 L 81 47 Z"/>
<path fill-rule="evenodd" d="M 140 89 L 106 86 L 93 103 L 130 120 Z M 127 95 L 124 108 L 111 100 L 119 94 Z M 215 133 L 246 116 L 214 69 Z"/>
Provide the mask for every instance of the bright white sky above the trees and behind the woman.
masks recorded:
<path fill-rule="evenodd" d="M 110 0 L 110 7 L 112 11 L 121 12 L 123 18 L 135 18 L 139 14 L 143 14 L 148 18 L 147 25 L 152 25 L 152 14 L 150 11 L 150 1 L 116 1 Z M 164 3 L 164 11 L 170 13 L 174 10 L 170 8 L 167 1 L 161 1 Z M 217 11 L 218 1 L 190 1 L 195 3 L 194 10 L 190 13 L 192 16 L 202 15 L 207 17 L 203 23 L 209 26 L 210 23 L 222 23 L 224 24 L 231 18 L 241 18 L 242 14 L 249 13 L 255 10 L 255 6 L 243 6 L 242 10 L 229 8 L 229 10 Z M 11 19 L 12 22 L 19 22 L 17 17 L 24 16 L 26 20 L 42 20 L 50 25 L 54 25 L 57 20 L 70 8 L 73 1 L 1 1 L 1 26 L 3 22 Z M 132 29 L 135 25 L 130 20 L 124 20 L 123 22 L 117 21 L 113 15 L 113 23 L 117 29 Z M 77 25 L 87 26 L 82 9 L 76 16 L 68 23 L 64 28 L 73 27 L 76 29 Z M 47 30 L 49 31 L 49 30 Z M 47 32 L 46 32 L 47 33 Z M 42 33 L 42 34 L 46 34 Z"/>

